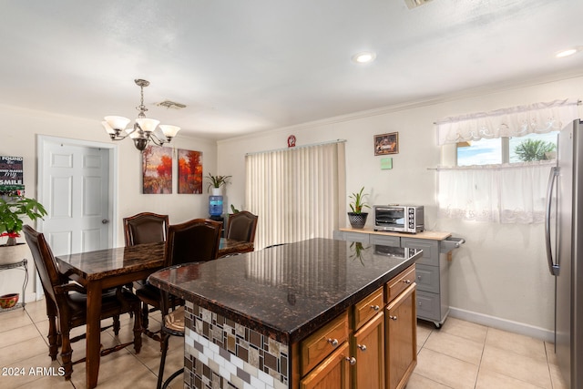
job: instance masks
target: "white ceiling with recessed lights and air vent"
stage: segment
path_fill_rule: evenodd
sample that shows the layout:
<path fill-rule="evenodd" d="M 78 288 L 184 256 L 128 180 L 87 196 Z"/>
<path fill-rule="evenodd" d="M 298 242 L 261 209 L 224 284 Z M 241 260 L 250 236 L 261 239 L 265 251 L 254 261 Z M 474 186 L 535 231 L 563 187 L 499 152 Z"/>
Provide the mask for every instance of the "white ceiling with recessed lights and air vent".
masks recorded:
<path fill-rule="evenodd" d="M 583 52 L 554 56 L 583 46 L 581 0 L 0 2 L 0 104 L 87 130 L 136 117 L 134 78 L 149 118 L 221 139 L 583 75 Z M 372 64 L 351 61 L 363 50 Z"/>

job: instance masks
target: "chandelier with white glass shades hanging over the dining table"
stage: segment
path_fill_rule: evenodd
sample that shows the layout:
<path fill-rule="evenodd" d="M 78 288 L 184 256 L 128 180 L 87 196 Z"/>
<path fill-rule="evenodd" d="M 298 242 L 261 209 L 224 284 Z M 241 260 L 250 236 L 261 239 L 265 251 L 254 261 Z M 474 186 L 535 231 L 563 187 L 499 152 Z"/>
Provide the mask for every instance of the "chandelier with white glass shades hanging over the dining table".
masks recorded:
<path fill-rule="evenodd" d="M 160 124 L 159 120 L 153 118 L 146 118 L 146 111 L 148 108 L 144 106 L 144 87 L 148 87 L 149 81 L 145 79 L 135 79 L 134 82 L 141 89 L 141 100 L 140 104 L 136 109 L 138 109 L 138 118 L 134 123 L 133 128 L 126 128 L 131 121 L 131 119 L 117 116 L 107 116 L 105 121 L 101 124 L 106 128 L 107 134 L 111 140 L 121 140 L 127 137 L 134 140 L 134 146 L 138 150 L 143 151 L 148 147 L 148 143 L 152 143 L 162 146 L 164 143 L 169 143 L 172 138 L 176 137 L 180 128 L 176 126 L 169 126 Z M 159 138 L 154 130 L 159 127 L 162 130 L 165 138 Z"/>

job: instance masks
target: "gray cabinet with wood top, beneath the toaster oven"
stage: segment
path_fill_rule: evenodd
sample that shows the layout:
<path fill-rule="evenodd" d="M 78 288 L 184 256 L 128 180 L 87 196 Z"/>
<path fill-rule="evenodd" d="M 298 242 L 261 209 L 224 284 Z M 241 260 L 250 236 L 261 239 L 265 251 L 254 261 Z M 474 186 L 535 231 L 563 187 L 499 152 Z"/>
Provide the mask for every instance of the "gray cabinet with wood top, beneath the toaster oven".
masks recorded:
<path fill-rule="evenodd" d="M 360 241 L 369 244 L 381 244 L 386 246 L 408 247 L 423 250 L 423 256 L 417 260 L 417 318 L 434 322 L 439 328 L 449 313 L 449 261 L 447 252 L 455 247 L 450 247 L 452 241 L 437 239 L 424 239 L 423 234 L 417 237 L 410 235 L 384 235 L 370 230 L 338 230 L 334 231 L 334 239 L 342 241 Z M 462 240 L 463 242 L 463 240 Z M 442 247 L 443 246 L 443 247 Z M 446 247 L 445 247 L 446 246 Z"/>

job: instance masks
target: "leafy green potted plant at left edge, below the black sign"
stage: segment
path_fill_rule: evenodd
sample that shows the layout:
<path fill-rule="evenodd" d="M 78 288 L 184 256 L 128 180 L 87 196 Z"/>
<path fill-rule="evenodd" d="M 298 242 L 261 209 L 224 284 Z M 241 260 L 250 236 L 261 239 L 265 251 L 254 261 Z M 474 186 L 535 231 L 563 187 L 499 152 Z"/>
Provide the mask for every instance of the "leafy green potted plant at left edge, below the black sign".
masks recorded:
<path fill-rule="evenodd" d="M 6 246 L 15 246 L 23 226 L 21 217 L 26 216 L 34 221 L 43 219 L 45 215 L 45 208 L 35 199 L 23 196 L 0 198 L 0 237 L 8 237 Z"/>

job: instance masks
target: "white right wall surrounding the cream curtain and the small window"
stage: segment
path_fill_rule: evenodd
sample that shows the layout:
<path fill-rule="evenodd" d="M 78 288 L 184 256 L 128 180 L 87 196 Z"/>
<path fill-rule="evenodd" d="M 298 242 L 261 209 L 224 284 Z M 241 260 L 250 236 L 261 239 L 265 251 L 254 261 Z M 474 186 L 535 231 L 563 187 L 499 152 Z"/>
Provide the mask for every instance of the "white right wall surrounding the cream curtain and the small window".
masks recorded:
<path fill-rule="evenodd" d="M 454 312 L 492 325 L 549 336 L 554 325 L 554 280 L 546 268 L 543 225 L 503 225 L 438 220 L 435 168 L 440 163 L 435 120 L 465 113 L 490 111 L 557 98 L 580 98 L 583 77 L 517 87 L 482 96 L 458 97 L 424 107 L 393 108 L 331 118 L 270 133 L 222 140 L 218 143 L 218 168 L 233 176 L 229 201 L 245 203 L 246 152 L 285 148 L 294 134 L 297 145 L 347 139 L 346 192 L 362 186 L 370 204 L 424 204 L 428 230 L 451 231 L 464 237 L 450 267 L 450 302 Z M 394 169 L 381 170 L 373 155 L 373 135 L 399 133 L 399 154 Z M 372 225 L 369 218 L 368 224 Z"/>

